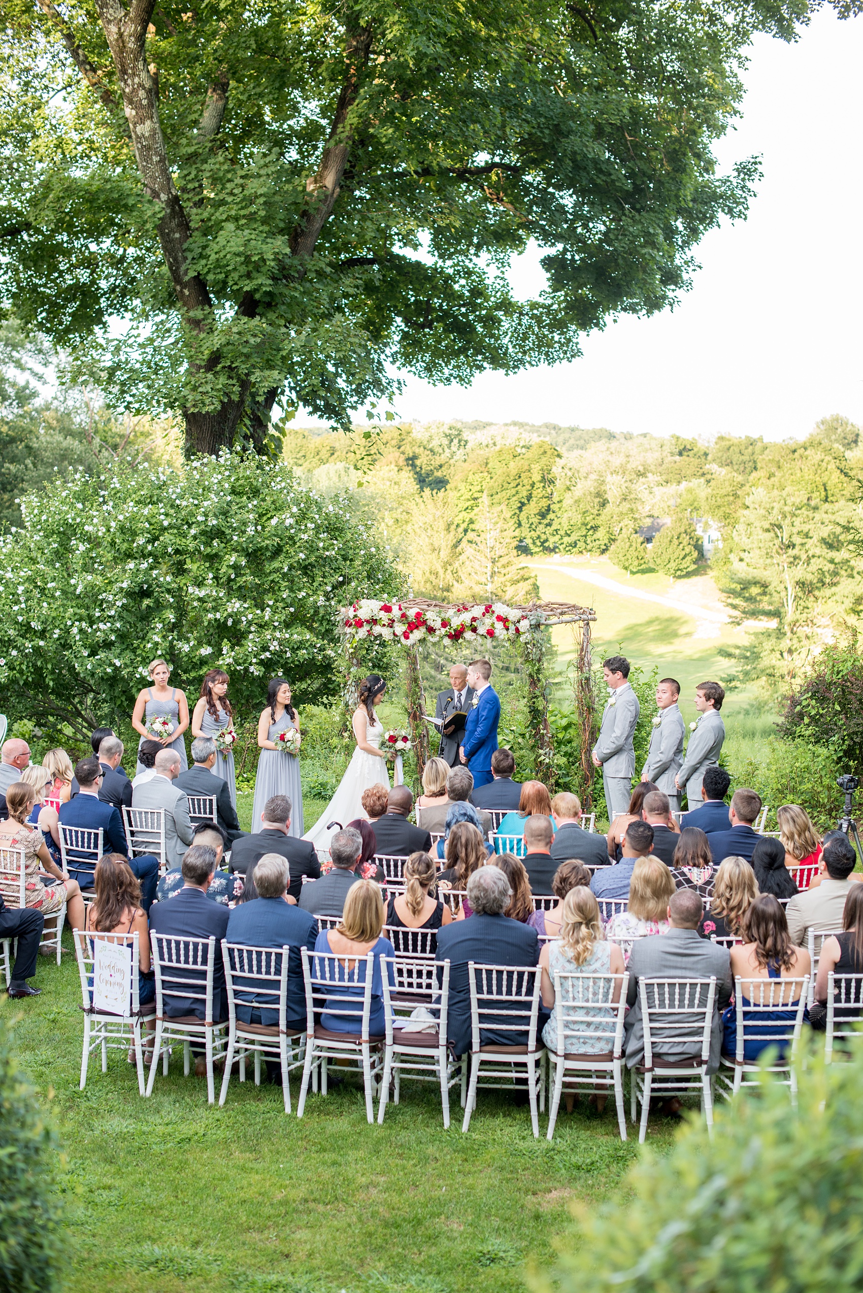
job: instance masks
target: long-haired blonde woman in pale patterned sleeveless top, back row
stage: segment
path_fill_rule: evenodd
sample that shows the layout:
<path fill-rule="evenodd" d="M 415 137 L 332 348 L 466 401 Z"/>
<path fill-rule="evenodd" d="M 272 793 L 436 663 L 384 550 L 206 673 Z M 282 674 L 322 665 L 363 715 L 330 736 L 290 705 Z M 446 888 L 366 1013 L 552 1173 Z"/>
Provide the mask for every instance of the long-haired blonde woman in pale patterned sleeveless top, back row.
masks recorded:
<path fill-rule="evenodd" d="M 624 974 L 624 957 L 615 943 L 606 939 L 603 923 L 599 919 L 599 906 L 596 899 L 589 888 L 571 890 L 563 903 L 563 924 L 560 937 L 554 943 L 543 944 L 540 953 L 542 966 L 542 1005 L 551 1010 L 551 1018 L 542 1029 L 542 1041 L 550 1051 L 558 1050 L 558 1018 L 554 1011 L 555 1005 L 555 975 L 586 975 Z M 609 1051 L 612 1038 L 609 1032 L 615 1032 L 615 1019 L 617 1011 L 615 1006 L 620 1001 L 621 980 L 613 983 L 611 979 L 606 984 L 591 984 L 586 996 L 581 992 L 573 993 L 573 984 L 569 979 L 562 979 L 563 1001 L 590 1001 L 593 1003 L 608 1002 L 603 1010 L 591 1011 L 590 1020 L 581 1023 L 581 1037 L 567 1037 L 568 1055 L 596 1054 Z M 584 992 L 584 989 L 582 989 Z M 593 1034 L 593 1036 L 591 1036 Z M 596 1112 L 602 1113 L 606 1107 L 607 1095 L 596 1096 Z M 573 1095 L 565 1096 L 567 1109 L 572 1113 Z"/>

